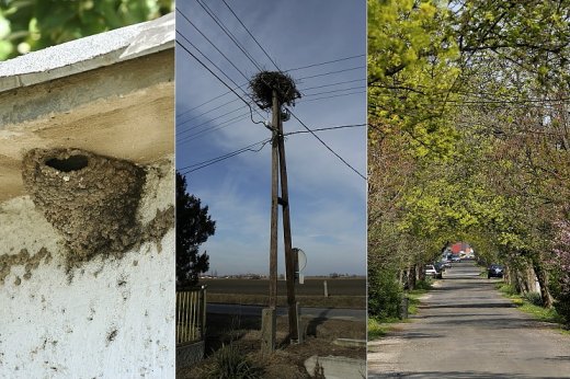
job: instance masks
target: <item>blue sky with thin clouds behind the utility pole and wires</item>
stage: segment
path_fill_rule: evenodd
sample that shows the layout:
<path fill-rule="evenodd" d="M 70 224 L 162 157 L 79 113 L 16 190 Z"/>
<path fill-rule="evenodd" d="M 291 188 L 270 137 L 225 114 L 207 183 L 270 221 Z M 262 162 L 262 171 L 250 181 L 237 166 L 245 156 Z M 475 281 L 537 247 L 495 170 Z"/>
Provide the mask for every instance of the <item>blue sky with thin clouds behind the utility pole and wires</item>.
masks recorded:
<path fill-rule="evenodd" d="M 290 70 L 303 97 L 289 108 L 307 127 L 365 124 L 366 1 L 192 0 L 176 2 L 176 168 L 187 192 L 216 221 L 216 233 L 201 250 L 209 255 L 210 273 L 266 275 L 271 143 L 262 142 L 271 131 L 259 122 L 271 120 L 271 114 L 256 106 L 250 114 L 221 81 L 251 102 L 247 83 L 260 69 Z M 332 60 L 339 61 L 323 64 Z M 306 130 L 294 117 L 283 128 Z M 317 135 L 366 175 L 365 126 Z M 251 148 L 215 160 L 246 147 Z M 310 134 L 287 136 L 285 153 L 292 240 L 307 255 L 304 274 L 364 275 L 366 181 Z M 280 207 L 280 274 L 285 272 Z"/>

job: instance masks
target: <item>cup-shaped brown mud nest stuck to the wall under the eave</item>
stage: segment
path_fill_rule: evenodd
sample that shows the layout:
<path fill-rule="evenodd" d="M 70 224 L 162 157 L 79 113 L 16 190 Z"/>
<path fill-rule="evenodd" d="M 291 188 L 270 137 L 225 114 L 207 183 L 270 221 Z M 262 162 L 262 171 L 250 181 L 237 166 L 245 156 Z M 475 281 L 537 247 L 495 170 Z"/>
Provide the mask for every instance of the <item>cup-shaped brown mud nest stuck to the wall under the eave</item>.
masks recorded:
<path fill-rule="evenodd" d="M 24 156 L 22 176 L 35 206 L 64 237 L 68 267 L 121 256 L 140 241 L 142 168 L 79 149 L 34 149 Z"/>

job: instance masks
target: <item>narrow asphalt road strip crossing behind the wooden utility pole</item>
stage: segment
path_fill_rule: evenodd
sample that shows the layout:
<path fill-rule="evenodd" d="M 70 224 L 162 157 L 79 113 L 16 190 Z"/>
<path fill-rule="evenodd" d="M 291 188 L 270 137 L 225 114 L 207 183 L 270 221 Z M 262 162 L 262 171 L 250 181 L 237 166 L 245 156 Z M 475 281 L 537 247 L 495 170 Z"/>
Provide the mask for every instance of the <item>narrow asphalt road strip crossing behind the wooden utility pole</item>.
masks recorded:
<path fill-rule="evenodd" d="M 240 305 L 221 305 L 208 303 L 206 311 L 208 313 L 217 314 L 237 314 L 237 315 L 253 315 L 261 318 L 260 306 L 240 306 Z M 277 315 L 286 315 L 287 309 L 284 307 L 277 308 Z M 312 319 L 331 319 L 331 320 L 349 320 L 349 321 L 366 321 L 366 310 L 364 309 L 343 309 L 343 308 L 305 308 L 301 307 L 300 314 L 304 318 Z"/>

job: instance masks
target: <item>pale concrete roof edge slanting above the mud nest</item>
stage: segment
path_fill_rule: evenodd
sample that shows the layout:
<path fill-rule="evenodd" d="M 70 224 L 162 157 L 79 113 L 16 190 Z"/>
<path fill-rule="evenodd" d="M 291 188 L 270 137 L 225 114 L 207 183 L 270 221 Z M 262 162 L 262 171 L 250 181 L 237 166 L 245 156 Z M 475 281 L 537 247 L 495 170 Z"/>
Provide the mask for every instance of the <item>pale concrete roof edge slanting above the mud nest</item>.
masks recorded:
<path fill-rule="evenodd" d="M 33 85 L 174 47 L 174 13 L 0 62 L 0 92 Z"/>

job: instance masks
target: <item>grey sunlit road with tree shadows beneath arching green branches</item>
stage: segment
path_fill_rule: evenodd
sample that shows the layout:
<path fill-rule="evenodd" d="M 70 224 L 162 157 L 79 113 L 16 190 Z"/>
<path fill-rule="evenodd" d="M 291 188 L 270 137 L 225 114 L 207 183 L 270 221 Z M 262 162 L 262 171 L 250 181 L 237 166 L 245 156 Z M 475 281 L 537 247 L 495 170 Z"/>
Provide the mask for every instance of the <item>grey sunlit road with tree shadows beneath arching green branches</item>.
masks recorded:
<path fill-rule="evenodd" d="M 534 321 L 454 264 L 410 323 L 368 343 L 368 378 L 570 378 L 570 336 Z"/>

